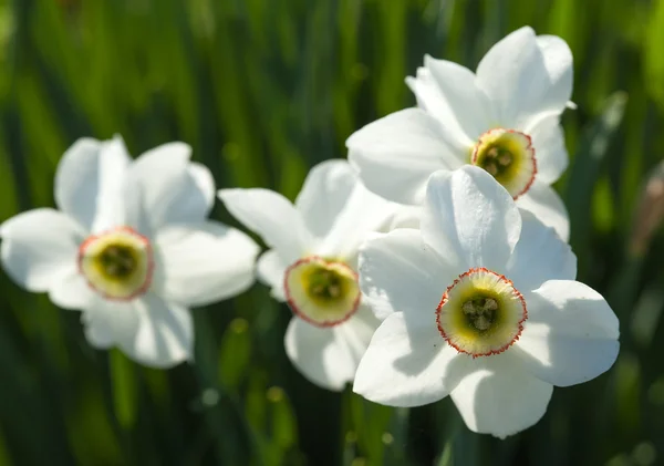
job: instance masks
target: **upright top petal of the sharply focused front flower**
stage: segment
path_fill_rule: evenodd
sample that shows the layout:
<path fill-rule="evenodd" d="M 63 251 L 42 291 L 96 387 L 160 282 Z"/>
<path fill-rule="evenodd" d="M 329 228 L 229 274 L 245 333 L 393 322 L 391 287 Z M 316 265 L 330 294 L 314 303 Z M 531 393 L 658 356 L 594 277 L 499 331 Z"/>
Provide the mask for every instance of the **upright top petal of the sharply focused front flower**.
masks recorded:
<path fill-rule="evenodd" d="M 467 165 L 432 175 L 421 228 L 424 242 L 449 262 L 500 271 L 519 240 L 521 216 L 491 175 Z"/>

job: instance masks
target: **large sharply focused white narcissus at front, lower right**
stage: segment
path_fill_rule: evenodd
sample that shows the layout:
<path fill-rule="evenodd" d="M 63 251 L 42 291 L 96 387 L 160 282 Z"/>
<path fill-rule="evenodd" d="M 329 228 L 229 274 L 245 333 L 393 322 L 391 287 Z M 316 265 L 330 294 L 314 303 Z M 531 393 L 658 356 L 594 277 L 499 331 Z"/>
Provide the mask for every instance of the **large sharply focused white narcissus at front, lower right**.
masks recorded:
<path fill-rule="evenodd" d="M 361 249 L 360 286 L 384 320 L 354 391 L 392 406 L 450 395 L 470 429 L 498 437 L 533 425 L 553 385 L 618 356 L 615 314 L 575 275 L 570 247 L 485 170 L 437 172 L 421 230 Z"/>

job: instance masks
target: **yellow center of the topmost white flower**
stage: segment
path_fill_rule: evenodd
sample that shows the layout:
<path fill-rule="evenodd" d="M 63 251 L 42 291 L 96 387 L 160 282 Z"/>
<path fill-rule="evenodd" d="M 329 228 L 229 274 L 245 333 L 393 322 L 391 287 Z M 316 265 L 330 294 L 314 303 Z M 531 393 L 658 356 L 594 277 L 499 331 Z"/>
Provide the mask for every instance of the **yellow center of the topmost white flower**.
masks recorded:
<path fill-rule="evenodd" d="M 487 170 L 516 199 L 532 185 L 537 174 L 530 136 L 495 128 L 479 136 L 470 163 Z"/>

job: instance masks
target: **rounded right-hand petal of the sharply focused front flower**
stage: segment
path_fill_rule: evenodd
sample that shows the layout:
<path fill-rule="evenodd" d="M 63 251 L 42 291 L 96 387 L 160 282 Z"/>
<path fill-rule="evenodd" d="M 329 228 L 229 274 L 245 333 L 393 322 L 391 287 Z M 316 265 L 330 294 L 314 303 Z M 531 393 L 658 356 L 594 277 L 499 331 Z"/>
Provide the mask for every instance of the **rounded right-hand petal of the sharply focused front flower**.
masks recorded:
<path fill-rule="evenodd" d="M 552 280 L 527 297 L 528 320 L 518 348 L 528 370 L 558 386 L 608 371 L 620 349 L 618 318 L 596 291 Z"/>

